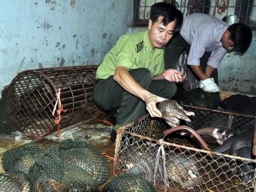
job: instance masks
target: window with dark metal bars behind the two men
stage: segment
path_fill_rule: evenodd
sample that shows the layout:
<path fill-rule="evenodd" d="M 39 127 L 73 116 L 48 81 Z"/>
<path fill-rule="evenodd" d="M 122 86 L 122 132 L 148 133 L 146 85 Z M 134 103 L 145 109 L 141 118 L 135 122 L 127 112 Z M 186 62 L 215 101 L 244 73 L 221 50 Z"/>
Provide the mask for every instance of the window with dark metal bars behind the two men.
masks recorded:
<path fill-rule="evenodd" d="M 256 0 L 134 0 L 134 26 L 147 26 L 150 6 L 166 2 L 178 7 L 183 15 L 205 13 L 223 19 L 237 15 L 239 22 L 256 29 Z"/>

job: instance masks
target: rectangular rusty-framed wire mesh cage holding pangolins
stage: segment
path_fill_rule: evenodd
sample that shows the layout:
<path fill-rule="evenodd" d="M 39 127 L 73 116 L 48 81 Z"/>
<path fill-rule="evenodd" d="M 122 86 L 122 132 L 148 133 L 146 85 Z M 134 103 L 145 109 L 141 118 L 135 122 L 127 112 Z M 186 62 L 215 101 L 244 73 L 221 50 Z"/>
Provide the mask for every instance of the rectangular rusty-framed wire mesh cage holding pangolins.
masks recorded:
<path fill-rule="evenodd" d="M 113 177 L 123 172 L 142 175 L 161 191 L 254 191 L 256 161 L 248 143 L 253 143 L 255 117 L 182 107 L 195 113 L 188 124 L 192 129 L 226 127 L 234 135 L 222 145 L 201 135 L 205 150 L 188 132 L 166 134 L 173 128 L 146 115 L 117 131 Z M 225 152 L 219 153 L 220 147 Z"/>

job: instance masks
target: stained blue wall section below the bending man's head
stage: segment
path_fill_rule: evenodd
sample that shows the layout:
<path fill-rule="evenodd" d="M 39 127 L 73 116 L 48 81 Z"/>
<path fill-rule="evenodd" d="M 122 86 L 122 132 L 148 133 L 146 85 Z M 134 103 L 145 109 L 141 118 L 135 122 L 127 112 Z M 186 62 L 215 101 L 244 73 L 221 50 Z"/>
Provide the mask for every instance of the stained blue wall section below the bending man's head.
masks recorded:
<path fill-rule="evenodd" d="M 256 95 L 256 31 L 247 52 L 239 57 L 233 53 L 222 59 L 219 71 L 219 85 L 222 91 Z"/>

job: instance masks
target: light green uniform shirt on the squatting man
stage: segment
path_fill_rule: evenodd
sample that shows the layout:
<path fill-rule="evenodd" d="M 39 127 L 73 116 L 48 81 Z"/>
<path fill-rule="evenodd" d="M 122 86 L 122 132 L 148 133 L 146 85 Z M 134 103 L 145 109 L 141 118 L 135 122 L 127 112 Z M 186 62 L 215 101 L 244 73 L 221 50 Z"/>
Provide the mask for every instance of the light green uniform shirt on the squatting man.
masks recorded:
<path fill-rule="evenodd" d="M 98 67 L 96 79 L 106 79 L 114 75 L 118 66 L 129 69 L 147 68 L 151 76 L 159 75 L 164 71 L 164 50 L 152 50 L 148 30 L 123 35 Z"/>

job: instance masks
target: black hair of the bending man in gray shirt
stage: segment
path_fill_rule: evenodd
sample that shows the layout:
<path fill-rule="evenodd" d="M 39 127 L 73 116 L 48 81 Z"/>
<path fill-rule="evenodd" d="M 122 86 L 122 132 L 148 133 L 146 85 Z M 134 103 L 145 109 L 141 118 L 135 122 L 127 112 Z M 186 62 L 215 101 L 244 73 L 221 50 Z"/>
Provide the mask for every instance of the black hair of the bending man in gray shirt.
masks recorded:
<path fill-rule="evenodd" d="M 232 51 L 243 55 L 252 42 L 252 30 L 242 23 L 234 23 L 227 30 L 230 32 L 229 39 L 234 42 Z"/>

